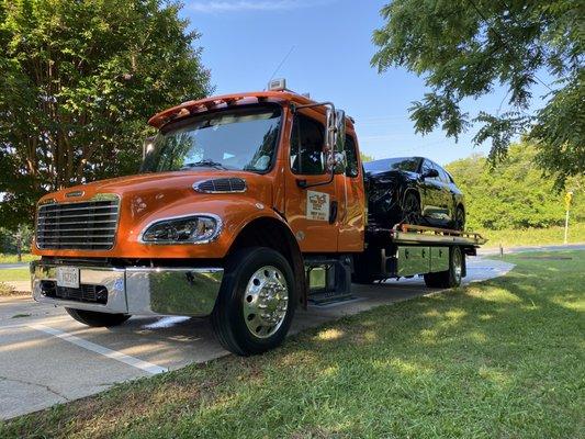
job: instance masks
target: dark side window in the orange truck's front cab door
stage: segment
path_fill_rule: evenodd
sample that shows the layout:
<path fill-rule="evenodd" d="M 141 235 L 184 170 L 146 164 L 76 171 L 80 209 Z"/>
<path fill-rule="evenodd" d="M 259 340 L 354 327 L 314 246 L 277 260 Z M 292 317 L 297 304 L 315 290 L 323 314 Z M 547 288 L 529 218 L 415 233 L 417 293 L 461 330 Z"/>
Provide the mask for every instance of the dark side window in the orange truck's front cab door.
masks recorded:
<path fill-rule="evenodd" d="M 291 134 L 291 169 L 294 173 L 325 173 L 324 126 L 314 119 L 297 113 Z"/>

